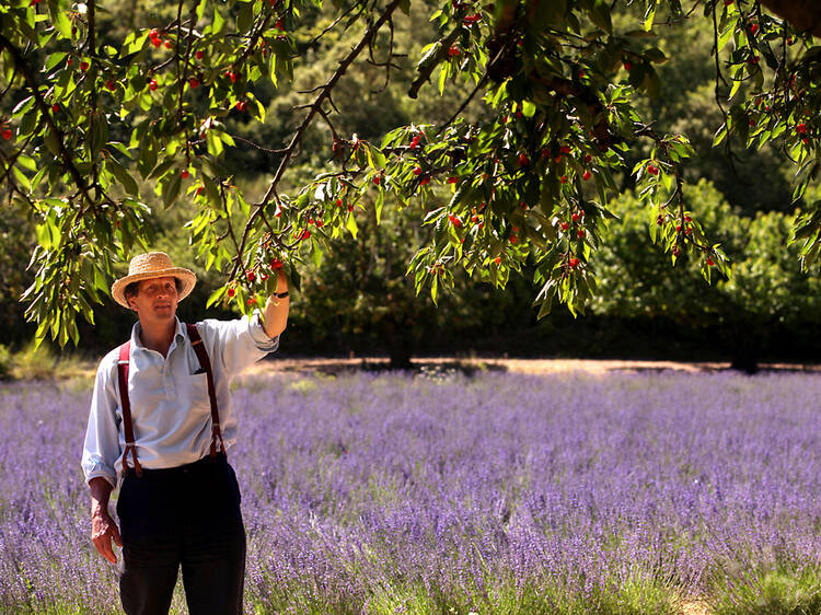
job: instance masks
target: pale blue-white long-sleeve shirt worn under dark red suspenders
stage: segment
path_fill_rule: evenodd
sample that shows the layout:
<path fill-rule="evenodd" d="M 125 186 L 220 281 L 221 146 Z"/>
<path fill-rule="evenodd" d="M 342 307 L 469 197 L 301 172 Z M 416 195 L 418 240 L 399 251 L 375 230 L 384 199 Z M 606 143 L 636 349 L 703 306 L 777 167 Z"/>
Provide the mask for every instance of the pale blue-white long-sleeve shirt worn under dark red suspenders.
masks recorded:
<path fill-rule="evenodd" d="M 144 468 L 176 467 L 210 452 L 207 376 L 185 325 L 178 318 L 176 325 L 167 357 L 142 345 L 139 322 L 131 329 L 128 396 L 137 459 Z M 258 313 L 236 321 L 206 320 L 197 323 L 197 330 L 211 361 L 222 438 L 226 446 L 230 446 L 236 441 L 236 417 L 229 391 L 231 379 L 275 351 L 279 336 L 269 338 L 265 334 Z M 115 348 L 97 368 L 81 462 L 86 483 L 101 476 L 116 486 L 122 472 L 126 444 L 118 360 L 119 348 Z"/>

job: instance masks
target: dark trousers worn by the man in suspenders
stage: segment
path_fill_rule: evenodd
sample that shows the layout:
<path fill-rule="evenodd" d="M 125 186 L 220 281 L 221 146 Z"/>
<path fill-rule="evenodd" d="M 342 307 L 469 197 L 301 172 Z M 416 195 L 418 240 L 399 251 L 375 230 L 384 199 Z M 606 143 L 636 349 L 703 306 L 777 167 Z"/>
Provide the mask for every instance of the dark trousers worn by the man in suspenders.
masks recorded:
<path fill-rule="evenodd" d="M 128 615 L 165 615 L 183 569 L 192 615 L 242 613 L 245 529 L 223 454 L 169 469 L 129 469 L 117 500 Z"/>

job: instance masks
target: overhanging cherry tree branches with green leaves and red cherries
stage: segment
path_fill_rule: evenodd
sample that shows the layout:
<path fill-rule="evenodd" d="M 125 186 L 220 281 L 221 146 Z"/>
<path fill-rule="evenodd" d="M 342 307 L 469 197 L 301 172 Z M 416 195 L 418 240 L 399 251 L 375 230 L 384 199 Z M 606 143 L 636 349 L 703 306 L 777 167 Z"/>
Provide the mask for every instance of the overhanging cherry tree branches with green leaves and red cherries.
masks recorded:
<path fill-rule="evenodd" d="M 497 287 L 535 264 L 535 304 L 554 300 L 575 314 L 595 290 L 595 253 L 613 213 L 614 175 L 632 174 L 645 204 L 650 240 L 675 264 L 684 253 L 709 280 L 730 271 L 687 204 L 682 165 L 693 154 L 684 135 L 663 134 L 643 117 L 643 96 L 658 96 L 656 65 L 668 61 L 656 32 L 708 20 L 716 66 L 716 105 L 724 123 L 715 146 L 761 148 L 775 142 L 797 165 L 799 201 L 818 173 L 821 7 L 809 0 L 646 0 L 629 27 L 613 14 L 637 1 L 451 0 L 431 8 L 438 37 L 417 59 L 407 95 L 441 94 L 456 82 L 470 93 L 449 120 L 401 126 L 381 142 L 335 128 L 337 85 L 354 62 L 396 70 L 394 28 L 409 0 L 335 0 L 336 19 L 308 18 L 321 0 L 209 0 L 158 4 L 122 39 L 100 24 L 93 0 L 11 0 L 0 5 L 0 189 L 3 206 L 28 208 L 38 245 L 35 282 L 24 294 L 27 316 L 60 344 L 78 339 L 77 314 L 91 318 L 108 292 L 115 264 L 148 247 L 152 207 L 190 199 L 190 243 L 205 266 L 226 276 L 210 303 L 248 311 L 285 270 L 328 242 L 356 233 L 356 208 L 379 220 L 384 207 L 416 208 L 432 229 L 416 246 L 407 274 L 433 301 L 453 272 Z M 629 4 L 629 5 L 625 5 Z M 163 7 L 171 7 L 162 9 Z M 170 11 L 166 15 L 163 10 Z M 621 23 L 623 20 L 616 21 Z M 343 31 L 350 46 L 333 74 L 294 109 L 287 142 L 261 148 L 275 155 L 259 198 L 227 171 L 238 141 L 226 118 L 263 121 L 257 88 L 304 70 L 307 47 Z M 671 60 L 674 61 L 674 58 Z M 467 121 L 473 98 L 487 113 Z M 309 127 L 332 139 L 325 166 L 308 182 L 289 175 Z M 245 123 L 245 126 L 252 125 Z M 628 154 L 650 144 L 627 167 Z M 151 181 L 143 194 L 136 175 Z M 300 185 L 303 184 L 303 185 Z M 806 267 L 821 250 L 821 209 L 805 206 L 794 239 Z"/>

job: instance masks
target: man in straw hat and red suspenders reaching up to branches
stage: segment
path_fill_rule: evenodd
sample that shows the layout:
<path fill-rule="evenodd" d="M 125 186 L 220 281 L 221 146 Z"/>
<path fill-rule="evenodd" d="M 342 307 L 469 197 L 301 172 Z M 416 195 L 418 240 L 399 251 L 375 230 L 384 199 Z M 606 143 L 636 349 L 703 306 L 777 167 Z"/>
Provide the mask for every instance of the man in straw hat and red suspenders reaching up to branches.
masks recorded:
<path fill-rule="evenodd" d="M 167 613 L 181 566 L 193 615 L 242 612 L 245 530 L 226 456 L 236 439 L 229 384 L 277 349 L 288 286 L 280 270 L 264 324 L 256 312 L 184 325 L 177 302 L 195 283 L 193 271 L 150 252 L 112 287 L 139 322 L 97 369 L 82 467 L 94 546 L 112 564 L 112 541 L 123 547 L 120 597 L 129 615 Z M 118 477 L 119 529 L 108 513 Z"/>

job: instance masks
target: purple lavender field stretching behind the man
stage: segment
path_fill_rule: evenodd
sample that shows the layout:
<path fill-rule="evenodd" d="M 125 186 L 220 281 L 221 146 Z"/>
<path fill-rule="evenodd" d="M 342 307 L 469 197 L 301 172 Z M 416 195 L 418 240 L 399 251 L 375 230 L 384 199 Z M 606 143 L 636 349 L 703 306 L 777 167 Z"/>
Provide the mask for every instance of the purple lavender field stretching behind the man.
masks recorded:
<path fill-rule="evenodd" d="M 821 610 L 818 376 L 282 375 L 234 395 L 248 613 Z M 2 613 L 118 611 L 88 538 L 89 399 L 0 388 Z"/>

